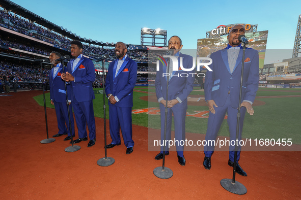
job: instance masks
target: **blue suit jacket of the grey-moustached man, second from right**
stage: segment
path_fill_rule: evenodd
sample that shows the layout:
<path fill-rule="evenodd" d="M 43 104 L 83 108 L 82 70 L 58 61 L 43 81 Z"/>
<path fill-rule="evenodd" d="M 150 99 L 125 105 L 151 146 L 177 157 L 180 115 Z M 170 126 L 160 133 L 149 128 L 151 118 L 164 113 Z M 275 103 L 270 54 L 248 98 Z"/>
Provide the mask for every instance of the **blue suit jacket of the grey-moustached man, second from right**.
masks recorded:
<path fill-rule="evenodd" d="M 191 68 L 193 65 L 193 57 L 186 54 L 179 54 L 178 63 L 180 66 L 180 57 L 183 57 L 183 67 L 184 68 Z M 173 71 L 173 77 L 169 80 L 169 89 L 168 89 L 168 100 L 176 99 L 179 97 L 182 101 L 180 105 L 183 105 L 187 108 L 187 96 L 191 91 L 193 91 L 194 87 L 194 76 L 189 73 L 194 73 L 195 70 L 191 72 L 186 72 L 183 70 Z M 167 66 L 160 63 L 159 71 L 157 71 L 156 79 L 155 79 L 155 88 L 156 88 L 156 95 L 157 99 L 163 97 L 166 100 L 166 86 L 167 86 L 167 76 L 163 77 L 163 73 L 167 73 Z M 188 74 L 182 75 L 181 74 Z"/>

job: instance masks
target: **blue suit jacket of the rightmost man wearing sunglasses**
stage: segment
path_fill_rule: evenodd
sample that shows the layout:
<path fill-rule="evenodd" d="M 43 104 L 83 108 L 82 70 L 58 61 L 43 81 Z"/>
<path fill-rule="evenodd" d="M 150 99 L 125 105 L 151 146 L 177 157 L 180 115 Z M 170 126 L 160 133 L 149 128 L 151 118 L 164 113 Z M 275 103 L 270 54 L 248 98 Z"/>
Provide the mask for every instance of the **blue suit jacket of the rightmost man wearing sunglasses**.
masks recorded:
<path fill-rule="evenodd" d="M 213 99 L 218 107 L 225 105 L 230 91 L 231 106 L 239 107 L 239 90 L 242 66 L 242 47 L 232 74 L 230 73 L 227 48 L 211 54 L 212 72 L 207 70 L 205 77 L 205 100 Z M 242 80 L 241 102 L 244 100 L 254 102 L 259 81 L 259 56 L 258 51 L 247 48 L 244 56 L 244 69 Z"/>

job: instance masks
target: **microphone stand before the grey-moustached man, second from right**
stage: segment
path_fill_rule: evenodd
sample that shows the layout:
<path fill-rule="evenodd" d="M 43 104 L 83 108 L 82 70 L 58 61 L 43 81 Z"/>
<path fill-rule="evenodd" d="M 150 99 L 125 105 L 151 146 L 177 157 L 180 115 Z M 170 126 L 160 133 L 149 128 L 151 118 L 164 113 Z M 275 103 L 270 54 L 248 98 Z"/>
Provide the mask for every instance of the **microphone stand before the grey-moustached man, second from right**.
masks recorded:
<path fill-rule="evenodd" d="M 167 74 L 169 74 L 169 66 L 167 67 Z M 169 75 L 170 76 L 170 75 Z M 158 166 L 154 169 L 153 173 L 156 177 L 160 179 L 169 179 L 173 176 L 173 171 L 169 168 L 165 167 L 165 148 L 166 148 L 166 129 L 167 129 L 167 102 L 168 102 L 168 85 L 169 85 L 169 77 L 167 77 L 167 84 L 166 84 L 166 104 L 165 104 L 165 123 L 164 123 L 164 140 L 163 140 L 163 160 L 162 160 L 162 167 Z"/>

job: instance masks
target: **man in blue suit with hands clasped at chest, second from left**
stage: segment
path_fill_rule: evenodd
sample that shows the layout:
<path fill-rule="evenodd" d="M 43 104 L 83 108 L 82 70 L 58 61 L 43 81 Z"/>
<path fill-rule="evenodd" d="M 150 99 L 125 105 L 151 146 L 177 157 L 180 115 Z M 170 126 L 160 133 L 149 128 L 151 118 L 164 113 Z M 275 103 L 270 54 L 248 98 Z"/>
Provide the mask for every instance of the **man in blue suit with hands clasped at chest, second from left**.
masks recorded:
<path fill-rule="evenodd" d="M 87 141 L 87 124 L 89 129 L 88 147 L 95 145 L 95 118 L 93 99 L 95 99 L 92 83 L 95 81 L 93 62 L 83 54 L 83 44 L 79 41 L 71 43 L 71 59 L 67 64 L 66 74 L 62 78 L 71 82 L 71 101 L 78 129 L 78 139 L 74 143 Z M 71 144 L 71 143 L 70 143 Z"/>

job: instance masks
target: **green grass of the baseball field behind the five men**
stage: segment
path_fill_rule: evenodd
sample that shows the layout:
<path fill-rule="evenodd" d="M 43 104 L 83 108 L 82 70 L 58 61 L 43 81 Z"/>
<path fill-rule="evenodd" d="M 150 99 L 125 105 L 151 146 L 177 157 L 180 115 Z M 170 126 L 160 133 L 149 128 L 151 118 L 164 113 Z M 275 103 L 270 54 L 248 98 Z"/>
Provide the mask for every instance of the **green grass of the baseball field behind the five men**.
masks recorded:
<path fill-rule="evenodd" d="M 154 87 L 135 87 L 136 90 L 153 91 Z M 196 88 L 198 89 L 198 88 Z M 95 97 L 93 101 L 94 114 L 96 117 L 103 118 L 103 95 L 102 89 L 94 89 Z M 297 92 L 296 92 L 297 91 Z M 203 95 L 204 92 L 193 91 L 191 94 Z M 300 95 L 301 89 L 294 88 L 260 88 L 257 96 L 276 96 L 276 95 Z M 142 92 L 133 92 L 133 110 L 159 107 L 159 103 L 147 102 L 140 99 L 141 96 L 148 95 Z M 153 94 L 151 94 L 153 95 Z M 40 106 L 43 106 L 43 95 L 35 96 Z M 50 104 L 50 94 L 45 94 L 46 106 L 54 108 Z M 285 98 L 260 98 L 265 102 L 263 106 L 255 106 L 254 116 L 248 113 L 245 115 L 243 138 L 257 139 L 278 139 L 292 138 L 295 144 L 301 144 L 301 97 Z M 106 119 L 108 119 L 107 98 L 105 98 Z M 187 112 L 208 111 L 207 106 L 188 106 Z M 208 118 L 186 117 L 186 132 L 205 134 L 207 129 Z M 148 115 L 146 113 L 132 114 L 132 123 L 151 128 L 160 128 L 160 115 Z M 220 136 L 229 136 L 227 120 L 224 120 Z"/>

